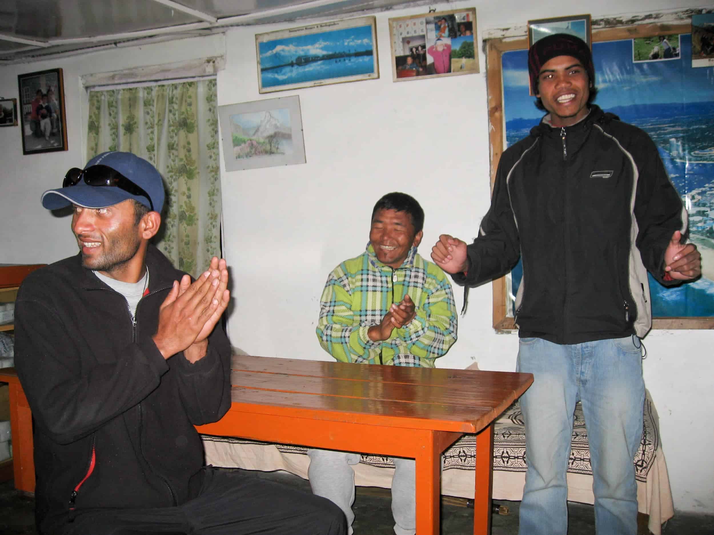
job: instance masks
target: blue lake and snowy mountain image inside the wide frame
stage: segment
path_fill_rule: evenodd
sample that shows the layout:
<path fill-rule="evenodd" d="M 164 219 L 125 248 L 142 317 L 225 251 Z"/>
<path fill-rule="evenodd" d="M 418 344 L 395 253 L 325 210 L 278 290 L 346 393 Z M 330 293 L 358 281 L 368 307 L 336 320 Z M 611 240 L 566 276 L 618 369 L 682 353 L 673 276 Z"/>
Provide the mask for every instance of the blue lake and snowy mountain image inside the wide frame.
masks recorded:
<path fill-rule="evenodd" d="M 286 86 L 374 71 L 372 26 L 258 43 L 263 87 Z"/>

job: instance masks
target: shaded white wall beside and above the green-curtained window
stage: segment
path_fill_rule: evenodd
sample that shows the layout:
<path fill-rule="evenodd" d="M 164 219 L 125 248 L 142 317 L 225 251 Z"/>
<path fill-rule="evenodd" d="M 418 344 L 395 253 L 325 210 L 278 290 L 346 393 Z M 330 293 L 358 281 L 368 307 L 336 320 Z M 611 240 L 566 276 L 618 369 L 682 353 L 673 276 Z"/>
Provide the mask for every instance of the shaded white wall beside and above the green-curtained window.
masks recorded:
<path fill-rule="evenodd" d="M 43 191 L 59 188 L 71 167 L 86 159 L 86 92 L 80 76 L 224 54 L 222 34 L 181 39 L 69 58 L 0 67 L 0 96 L 18 98 L 19 74 L 61 68 L 64 76 L 68 150 L 23 156 L 20 126 L 0 128 L 0 263 L 47 263 L 76 253 L 68 218 L 56 218 L 39 203 Z"/>

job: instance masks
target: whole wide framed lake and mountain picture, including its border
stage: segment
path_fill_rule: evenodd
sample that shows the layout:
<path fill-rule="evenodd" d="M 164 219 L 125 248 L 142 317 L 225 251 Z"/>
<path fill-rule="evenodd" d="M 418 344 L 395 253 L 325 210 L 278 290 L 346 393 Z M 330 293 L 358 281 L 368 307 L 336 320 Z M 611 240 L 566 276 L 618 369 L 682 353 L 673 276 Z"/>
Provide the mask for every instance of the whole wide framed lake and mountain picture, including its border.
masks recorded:
<path fill-rule="evenodd" d="M 376 19 L 256 34 L 258 93 L 379 78 Z"/>

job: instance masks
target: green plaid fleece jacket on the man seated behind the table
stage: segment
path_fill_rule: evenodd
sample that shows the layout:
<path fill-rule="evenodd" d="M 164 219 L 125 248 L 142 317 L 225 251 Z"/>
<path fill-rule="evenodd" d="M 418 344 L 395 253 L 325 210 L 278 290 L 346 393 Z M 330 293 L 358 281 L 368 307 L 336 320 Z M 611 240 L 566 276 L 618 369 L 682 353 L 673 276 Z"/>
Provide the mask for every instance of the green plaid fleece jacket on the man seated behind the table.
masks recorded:
<path fill-rule="evenodd" d="M 381 322 L 393 302 L 409 294 L 416 315 L 383 342 L 367 330 Z M 456 342 L 456 305 L 451 282 L 436 264 L 411 248 L 401 267 L 377 260 L 371 244 L 357 258 L 338 265 L 320 298 L 316 329 L 320 345 L 342 362 L 434 367 Z"/>

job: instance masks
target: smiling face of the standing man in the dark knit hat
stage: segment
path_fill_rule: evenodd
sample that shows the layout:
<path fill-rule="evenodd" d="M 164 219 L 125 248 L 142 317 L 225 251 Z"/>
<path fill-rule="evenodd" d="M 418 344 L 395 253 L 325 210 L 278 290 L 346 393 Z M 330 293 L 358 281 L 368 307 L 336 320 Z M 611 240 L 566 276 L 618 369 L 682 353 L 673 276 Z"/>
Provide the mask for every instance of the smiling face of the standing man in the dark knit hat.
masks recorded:
<path fill-rule="evenodd" d="M 570 126 L 588 115 L 588 71 L 573 56 L 555 56 L 538 73 L 538 93 L 550 112 L 550 124 Z"/>

